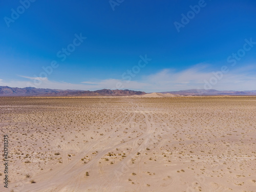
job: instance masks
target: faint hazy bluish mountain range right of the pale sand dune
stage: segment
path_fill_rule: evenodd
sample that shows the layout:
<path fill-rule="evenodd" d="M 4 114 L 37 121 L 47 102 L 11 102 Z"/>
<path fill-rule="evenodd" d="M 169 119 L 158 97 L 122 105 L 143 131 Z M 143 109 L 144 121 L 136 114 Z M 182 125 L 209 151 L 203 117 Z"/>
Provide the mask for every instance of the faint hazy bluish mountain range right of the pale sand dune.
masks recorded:
<path fill-rule="evenodd" d="M 256 90 L 254 91 L 218 91 L 218 90 L 204 90 L 204 89 L 190 89 L 181 91 L 169 91 L 160 92 L 163 94 L 177 94 L 177 95 L 256 95 Z"/>

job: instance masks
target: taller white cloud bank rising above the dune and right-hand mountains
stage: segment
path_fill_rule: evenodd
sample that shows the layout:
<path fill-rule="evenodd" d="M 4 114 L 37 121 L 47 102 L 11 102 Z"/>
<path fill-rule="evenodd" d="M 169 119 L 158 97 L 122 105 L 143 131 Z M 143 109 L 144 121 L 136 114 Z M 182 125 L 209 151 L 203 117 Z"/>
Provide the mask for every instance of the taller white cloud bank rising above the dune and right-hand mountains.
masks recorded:
<path fill-rule="evenodd" d="M 255 66 L 247 66 L 236 70 L 229 69 L 223 74 L 217 83 L 212 84 L 211 89 L 216 90 L 255 90 L 256 77 Z M 254 72 L 252 72 L 254 70 Z M 215 78 L 213 72 L 209 71 L 204 65 L 197 65 L 189 69 L 176 72 L 164 69 L 156 74 L 147 76 L 144 80 L 152 85 L 156 91 L 169 91 L 181 89 L 204 89 L 205 80 Z"/>

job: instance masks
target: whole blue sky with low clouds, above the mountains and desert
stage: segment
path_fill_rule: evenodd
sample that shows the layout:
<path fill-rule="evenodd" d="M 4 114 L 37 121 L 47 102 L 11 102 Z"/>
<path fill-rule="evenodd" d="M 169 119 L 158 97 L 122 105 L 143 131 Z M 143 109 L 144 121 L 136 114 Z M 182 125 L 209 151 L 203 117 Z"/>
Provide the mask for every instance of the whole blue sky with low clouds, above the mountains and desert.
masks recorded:
<path fill-rule="evenodd" d="M 0 14 L 0 86 L 256 90 L 253 0 L 1 1 Z"/>

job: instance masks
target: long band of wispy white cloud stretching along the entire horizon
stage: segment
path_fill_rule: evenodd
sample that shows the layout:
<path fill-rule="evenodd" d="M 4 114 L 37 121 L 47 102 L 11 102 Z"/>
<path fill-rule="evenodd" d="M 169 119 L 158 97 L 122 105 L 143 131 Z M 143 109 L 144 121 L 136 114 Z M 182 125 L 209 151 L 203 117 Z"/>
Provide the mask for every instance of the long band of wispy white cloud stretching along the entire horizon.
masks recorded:
<path fill-rule="evenodd" d="M 163 69 L 155 74 L 143 76 L 141 80 L 126 81 L 123 79 L 98 79 L 87 80 L 80 83 L 69 83 L 51 81 L 48 78 L 40 77 L 20 77 L 26 78 L 24 81 L 5 81 L 0 79 L 0 86 L 27 87 L 28 83 L 41 81 L 38 88 L 50 89 L 76 89 L 76 90 L 98 90 L 98 89 L 120 89 L 117 84 L 121 84 L 121 89 L 141 90 L 146 92 L 177 91 L 184 89 L 204 89 L 204 80 L 209 80 L 213 76 L 213 71 L 208 65 L 200 63 L 191 68 L 176 71 L 174 69 Z M 218 70 L 216 70 L 218 71 Z M 215 71 L 215 72 L 216 72 Z M 227 74 L 212 86 L 216 90 L 256 90 L 256 67 L 248 65 L 243 68 L 230 70 Z"/>

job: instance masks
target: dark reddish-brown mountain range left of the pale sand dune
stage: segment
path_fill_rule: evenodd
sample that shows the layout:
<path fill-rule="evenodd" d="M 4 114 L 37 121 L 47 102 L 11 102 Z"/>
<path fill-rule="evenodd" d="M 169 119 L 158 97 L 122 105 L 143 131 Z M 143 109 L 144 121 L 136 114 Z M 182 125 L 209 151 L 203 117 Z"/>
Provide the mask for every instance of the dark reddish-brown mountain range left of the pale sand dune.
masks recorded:
<path fill-rule="evenodd" d="M 10 88 L 0 86 L 0 96 L 130 96 L 144 95 L 142 91 L 131 90 L 109 90 L 97 91 L 82 90 L 57 90 L 57 89 L 37 89 L 37 88 Z"/>

